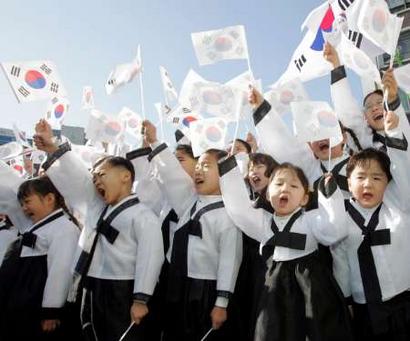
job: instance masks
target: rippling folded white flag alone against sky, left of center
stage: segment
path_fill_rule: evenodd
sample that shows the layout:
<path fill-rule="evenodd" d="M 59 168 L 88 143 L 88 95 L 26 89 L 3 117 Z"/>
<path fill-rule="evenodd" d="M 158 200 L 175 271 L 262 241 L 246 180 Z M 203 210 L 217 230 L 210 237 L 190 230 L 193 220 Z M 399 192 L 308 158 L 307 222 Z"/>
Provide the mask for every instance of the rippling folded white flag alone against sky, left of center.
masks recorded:
<path fill-rule="evenodd" d="M 138 45 L 137 56 L 131 63 L 119 64 L 111 71 L 105 83 L 107 94 L 111 95 L 120 86 L 131 82 L 141 71 L 141 49 Z"/>

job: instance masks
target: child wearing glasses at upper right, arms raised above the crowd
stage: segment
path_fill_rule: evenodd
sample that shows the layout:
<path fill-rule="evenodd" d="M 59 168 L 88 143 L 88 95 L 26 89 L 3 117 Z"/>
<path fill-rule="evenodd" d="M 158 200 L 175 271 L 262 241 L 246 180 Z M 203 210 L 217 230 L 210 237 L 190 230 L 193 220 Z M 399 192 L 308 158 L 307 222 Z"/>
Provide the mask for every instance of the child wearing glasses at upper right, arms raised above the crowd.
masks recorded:
<path fill-rule="evenodd" d="M 384 133 L 384 108 L 382 90 L 374 90 L 367 94 L 363 100 L 363 109 L 357 104 L 352 95 L 346 78 L 346 71 L 340 64 L 335 48 L 326 43 L 323 50 L 325 59 L 333 66 L 331 73 L 331 95 L 335 110 L 343 125 L 352 129 L 363 148 L 374 147 L 386 150 Z M 400 129 L 406 134 L 410 133 L 410 124 L 404 113 L 398 96 L 397 82 L 393 69 L 385 72 L 382 79 L 385 91 L 388 91 L 388 109 L 395 111 L 400 117 Z"/>

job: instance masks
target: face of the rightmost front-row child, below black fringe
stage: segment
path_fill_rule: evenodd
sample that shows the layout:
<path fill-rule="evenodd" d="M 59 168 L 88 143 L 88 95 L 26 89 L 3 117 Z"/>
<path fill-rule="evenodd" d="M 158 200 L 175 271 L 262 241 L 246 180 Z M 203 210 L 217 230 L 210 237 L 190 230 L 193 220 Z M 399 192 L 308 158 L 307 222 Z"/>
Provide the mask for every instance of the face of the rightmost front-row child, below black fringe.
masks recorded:
<path fill-rule="evenodd" d="M 373 208 L 383 201 L 389 180 L 377 160 L 367 159 L 354 167 L 348 178 L 353 198 L 363 208 Z"/>

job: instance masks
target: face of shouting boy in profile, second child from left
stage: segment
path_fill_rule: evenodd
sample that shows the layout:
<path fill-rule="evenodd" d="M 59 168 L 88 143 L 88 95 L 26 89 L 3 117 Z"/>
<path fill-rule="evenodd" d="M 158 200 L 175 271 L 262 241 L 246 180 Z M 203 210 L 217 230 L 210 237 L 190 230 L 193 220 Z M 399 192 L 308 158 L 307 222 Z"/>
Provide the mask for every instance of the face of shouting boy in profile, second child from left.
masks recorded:
<path fill-rule="evenodd" d="M 108 205 L 116 205 L 131 194 L 132 176 L 125 167 L 103 161 L 93 170 L 93 182 Z"/>

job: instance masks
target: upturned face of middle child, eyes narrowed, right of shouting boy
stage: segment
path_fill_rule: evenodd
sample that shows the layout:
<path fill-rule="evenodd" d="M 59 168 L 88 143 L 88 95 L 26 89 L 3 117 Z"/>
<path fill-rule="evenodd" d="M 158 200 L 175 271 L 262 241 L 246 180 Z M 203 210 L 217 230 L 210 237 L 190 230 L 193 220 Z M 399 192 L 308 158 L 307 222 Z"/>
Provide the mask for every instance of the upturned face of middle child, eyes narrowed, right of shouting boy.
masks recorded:
<path fill-rule="evenodd" d="M 194 174 L 195 189 L 201 195 L 219 195 L 218 160 L 211 153 L 203 153 L 196 164 Z"/>

